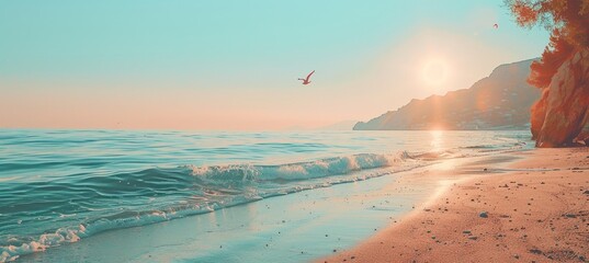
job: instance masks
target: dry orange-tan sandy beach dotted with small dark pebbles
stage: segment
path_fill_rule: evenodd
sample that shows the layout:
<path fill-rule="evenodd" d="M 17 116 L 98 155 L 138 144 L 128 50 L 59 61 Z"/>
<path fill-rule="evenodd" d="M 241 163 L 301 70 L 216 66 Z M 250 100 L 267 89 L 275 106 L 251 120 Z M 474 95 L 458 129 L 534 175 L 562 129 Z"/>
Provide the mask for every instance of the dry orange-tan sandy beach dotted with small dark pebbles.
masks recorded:
<path fill-rule="evenodd" d="M 507 169 L 479 162 L 449 170 L 487 175 L 453 183 L 355 248 L 318 262 L 587 262 L 589 149 L 514 155 L 523 159 Z"/>

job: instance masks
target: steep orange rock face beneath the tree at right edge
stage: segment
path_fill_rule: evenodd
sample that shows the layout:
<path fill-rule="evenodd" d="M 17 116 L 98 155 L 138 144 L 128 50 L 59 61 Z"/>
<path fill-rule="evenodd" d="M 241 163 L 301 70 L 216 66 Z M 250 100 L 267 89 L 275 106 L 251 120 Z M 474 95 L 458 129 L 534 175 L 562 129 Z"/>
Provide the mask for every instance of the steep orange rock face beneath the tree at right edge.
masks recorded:
<path fill-rule="evenodd" d="M 589 126 L 589 48 L 565 61 L 532 106 L 532 135 L 537 147 L 570 146 L 586 140 Z"/>

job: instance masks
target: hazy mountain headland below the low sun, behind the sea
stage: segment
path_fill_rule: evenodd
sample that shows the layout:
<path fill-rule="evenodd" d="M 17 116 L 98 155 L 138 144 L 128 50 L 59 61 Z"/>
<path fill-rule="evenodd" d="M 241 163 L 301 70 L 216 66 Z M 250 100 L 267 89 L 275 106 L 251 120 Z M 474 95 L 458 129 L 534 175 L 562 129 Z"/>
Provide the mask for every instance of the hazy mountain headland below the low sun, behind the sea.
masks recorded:
<path fill-rule="evenodd" d="M 534 59 L 501 65 L 469 89 L 411 100 L 353 129 L 521 129 L 541 91 L 525 81 Z"/>

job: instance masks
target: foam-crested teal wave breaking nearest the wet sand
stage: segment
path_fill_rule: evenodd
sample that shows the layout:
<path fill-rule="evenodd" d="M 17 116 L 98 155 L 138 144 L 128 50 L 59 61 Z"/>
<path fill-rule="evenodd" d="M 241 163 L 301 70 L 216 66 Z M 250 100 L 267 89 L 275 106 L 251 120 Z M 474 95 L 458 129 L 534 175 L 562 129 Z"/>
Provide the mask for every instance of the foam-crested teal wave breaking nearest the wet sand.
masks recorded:
<path fill-rule="evenodd" d="M 407 152 L 363 153 L 279 165 L 183 165 L 175 169 L 146 169 L 104 176 L 80 176 L 70 182 L 33 182 L 12 188 L 22 193 L 43 193 L 52 205 L 35 216 L 54 220 L 54 229 L 35 220 L 2 218 L 0 229 L 26 232 L 26 236 L 0 236 L 0 262 L 44 251 L 112 229 L 145 226 L 190 215 L 240 205 L 277 195 L 333 184 L 366 180 L 406 171 L 420 165 Z M 394 169 L 392 169 L 394 168 Z M 0 188 L 1 190 L 1 188 Z M 47 193 L 56 193 L 47 195 Z M 23 198 L 36 198 L 29 194 Z M 8 214 L 19 215 L 22 205 L 32 204 L 19 196 L 0 204 Z M 75 202 L 72 202 L 75 201 Z M 112 203 L 112 207 L 97 207 Z M 26 205 L 25 205 L 26 206 Z M 3 227 L 3 228 L 2 228 Z M 19 228 L 19 229 L 16 229 Z"/>

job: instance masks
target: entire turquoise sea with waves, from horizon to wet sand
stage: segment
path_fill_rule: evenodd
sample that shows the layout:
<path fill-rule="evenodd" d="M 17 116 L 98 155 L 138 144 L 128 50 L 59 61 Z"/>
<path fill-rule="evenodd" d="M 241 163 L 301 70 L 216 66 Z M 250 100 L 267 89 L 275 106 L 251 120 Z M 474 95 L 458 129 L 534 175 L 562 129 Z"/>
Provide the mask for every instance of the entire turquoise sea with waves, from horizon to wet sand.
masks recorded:
<path fill-rule="evenodd" d="M 525 149 L 529 132 L 0 130 L 0 262 L 423 164 Z M 389 170 L 387 170 L 389 171 Z"/>

